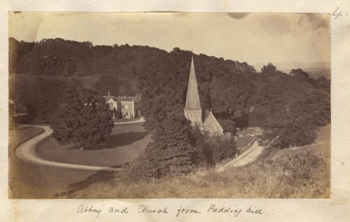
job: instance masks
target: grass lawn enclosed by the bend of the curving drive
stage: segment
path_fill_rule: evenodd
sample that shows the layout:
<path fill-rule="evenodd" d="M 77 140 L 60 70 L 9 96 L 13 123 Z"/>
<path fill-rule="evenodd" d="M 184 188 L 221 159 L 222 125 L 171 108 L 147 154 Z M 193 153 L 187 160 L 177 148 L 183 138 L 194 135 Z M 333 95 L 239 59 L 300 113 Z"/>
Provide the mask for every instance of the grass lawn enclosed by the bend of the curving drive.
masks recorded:
<path fill-rule="evenodd" d="M 142 123 L 115 125 L 106 139 L 106 146 L 100 150 L 80 150 L 72 146 L 59 146 L 54 138 L 43 140 L 36 147 L 36 155 L 57 162 L 102 167 L 119 167 L 144 153 L 151 136 Z"/>

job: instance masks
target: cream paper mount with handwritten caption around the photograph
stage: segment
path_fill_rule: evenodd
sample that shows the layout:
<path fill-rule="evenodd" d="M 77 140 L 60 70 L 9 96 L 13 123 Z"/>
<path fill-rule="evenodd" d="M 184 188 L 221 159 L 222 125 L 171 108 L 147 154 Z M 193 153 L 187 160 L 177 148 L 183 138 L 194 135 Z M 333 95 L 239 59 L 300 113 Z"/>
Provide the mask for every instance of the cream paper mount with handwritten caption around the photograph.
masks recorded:
<path fill-rule="evenodd" d="M 331 18 L 332 29 L 332 193 L 330 199 L 157 199 L 157 200 L 8 200 L 8 11 L 183 11 L 332 13 L 340 7 L 350 14 L 349 1 L 9 1 L 0 3 L 0 217 L 5 221 L 350 221 L 350 16 Z M 5 118 L 3 118 L 5 117 Z M 76 214 L 79 204 L 108 209 L 151 202 L 153 207 L 179 205 L 206 209 L 211 203 L 230 207 L 254 205 L 262 216 L 200 214 L 176 218 L 173 214 Z M 130 205 L 128 205 L 130 204 Z"/>

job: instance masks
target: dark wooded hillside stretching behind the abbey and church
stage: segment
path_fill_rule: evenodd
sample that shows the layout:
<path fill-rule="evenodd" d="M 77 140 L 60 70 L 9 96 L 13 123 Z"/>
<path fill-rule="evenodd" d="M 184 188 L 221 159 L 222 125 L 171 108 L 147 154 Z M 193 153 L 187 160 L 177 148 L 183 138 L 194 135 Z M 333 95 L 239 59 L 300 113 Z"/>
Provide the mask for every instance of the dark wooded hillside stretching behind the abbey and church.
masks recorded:
<path fill-rule="evenodd" d="M 330 93 L 329 80 L 309 78 L 304 71 L 289 75 L 273 64 L 256 71 L 246 62 L 193 55 L 179 48 L 168 53 L 148 46 L 93 46 L 64 39 L 25 43 L 10 38 L 9 44 L 10 98 L 31 106 L 40 123 L 49 119 L 37 115 L 50 113 L 42 110 L 45 101 L 55 103 L 48 97 L 57 98 L 68 86 L 99 95 L 138 93 L 146 118 L 161 120 L 169 112 L 181 112 L 191 56 L 202 108 L 212 109 L 223 125 L 233 120 L 236 127 L 262 126 L 270 113 L 294 106 L 314 90 Z"/>

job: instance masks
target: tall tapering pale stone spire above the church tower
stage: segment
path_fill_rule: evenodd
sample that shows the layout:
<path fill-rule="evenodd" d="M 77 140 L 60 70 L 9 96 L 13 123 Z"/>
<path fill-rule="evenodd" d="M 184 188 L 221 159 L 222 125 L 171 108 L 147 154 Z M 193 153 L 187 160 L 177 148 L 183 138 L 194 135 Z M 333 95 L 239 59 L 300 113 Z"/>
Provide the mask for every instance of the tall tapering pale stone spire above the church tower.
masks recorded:
<path fill-rule="evenodd" d="M 191 61 L 190 78 L 188 78 L 185 110 L 202 110 L 200 106 L 200 95 L 198 93 L 197 79 L 195 74 L 195 64 L 193 62 L 193 57 Z"/>

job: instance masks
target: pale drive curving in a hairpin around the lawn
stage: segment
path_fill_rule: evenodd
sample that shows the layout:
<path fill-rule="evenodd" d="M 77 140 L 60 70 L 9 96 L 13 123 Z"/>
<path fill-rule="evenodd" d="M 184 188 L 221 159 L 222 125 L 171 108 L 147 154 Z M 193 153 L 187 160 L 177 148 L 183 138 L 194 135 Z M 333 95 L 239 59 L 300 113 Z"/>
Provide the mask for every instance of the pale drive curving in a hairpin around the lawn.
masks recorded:
<path fill-rule="evenodd" d="M 93 170 L 93 171 L 120 171 L 123 170 L 123 168 L 113 168 L 113 167 L 99 167 L 99 166 L 90 166 L 90 165 L 77 165 L 77 164 L 70 164 L 65 162 L 55 162 L 50 160 L 43 160 L 42 158 L 39 158 L 35 154 L 35 148 L 38 143 L 43 141 L 43 139 L 50 137 L 52 134 L 52 130 L 48 126 L 43 125 L 36 125 L 35 127 L 41 127 L 44 131 L 41 134 L 38 134 L 36 137 L 32 137 L 31 139 L 28 139 L 27 141 L 23 142 L 16 148 L 15 155 L 20 160 L 23 160 L 25 162 L 34 163 L 37 165 L 45 165 L 50 167 L 62 167 L 62 168 L 69 168 L 69 169 L 86 169 L 86 170 Z"/>

